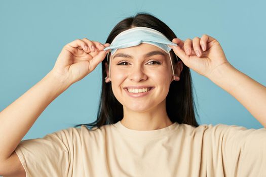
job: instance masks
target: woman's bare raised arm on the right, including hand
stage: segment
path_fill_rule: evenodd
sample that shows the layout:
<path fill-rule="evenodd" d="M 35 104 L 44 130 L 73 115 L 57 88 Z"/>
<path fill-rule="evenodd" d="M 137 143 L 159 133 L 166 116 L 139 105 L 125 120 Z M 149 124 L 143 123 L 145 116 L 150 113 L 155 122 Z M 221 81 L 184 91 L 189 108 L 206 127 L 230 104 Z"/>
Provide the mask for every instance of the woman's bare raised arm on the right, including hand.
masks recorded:
<path fill-rule="evenodd" d="M 266 87 L 234 68 L 215 38 L 204 34 L 193 40 L 174 38 L 172 41 L 178 46 L 170 47 L 187 67 L 235 97 L 266 127 Z"/>

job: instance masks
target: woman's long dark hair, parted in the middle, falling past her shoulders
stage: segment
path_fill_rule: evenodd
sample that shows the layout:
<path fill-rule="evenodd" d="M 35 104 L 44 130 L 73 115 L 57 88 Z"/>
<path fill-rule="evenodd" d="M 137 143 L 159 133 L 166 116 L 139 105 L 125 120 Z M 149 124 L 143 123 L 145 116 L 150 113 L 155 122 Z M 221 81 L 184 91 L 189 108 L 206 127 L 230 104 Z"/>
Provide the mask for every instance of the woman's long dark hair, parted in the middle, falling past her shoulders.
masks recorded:
<path fill-rule="evenodd" d="M 174 32 L 161 20 L 155 16 L 140 12 L 133 17 L 128 17 L 120 21 L 110 32 L 105 43 L 111 43 L 112 40 L 122 31 L 133 27 L 148 27 L 162 32 L 169 40 L 176 38 Z M 179 57 L 175 55 L 173 50 L 170 55 L 175 66 Z M 110 56 L 110 55 L 109 55 Z M 102 90 L 98 107 L 97 119 L 92 123 L 77 124 L 74 127 L 85 125 L 90 129 L 100 128 L 102 125 L 117 123 L 123 118 L 123 105 L 113 95 L 111 83 L 105 83 L 106 77 L 105 63 L 107 63 L 107 55 L 102 61 Z M 182 62 L 182 61 L 181 61 Z M 183 64 L 183 63 L 182 63 Z M 179 81 L 172 81 L 169 92 L 166 97 L 166 111 L 172 122 L 179 124 L 185 123 L 192 126 L 199 126 L 195 114 L 198 115 L 195 102 L 193 99 L 193 88 L 191 72 L 187 66 L 183 64 Z"/>

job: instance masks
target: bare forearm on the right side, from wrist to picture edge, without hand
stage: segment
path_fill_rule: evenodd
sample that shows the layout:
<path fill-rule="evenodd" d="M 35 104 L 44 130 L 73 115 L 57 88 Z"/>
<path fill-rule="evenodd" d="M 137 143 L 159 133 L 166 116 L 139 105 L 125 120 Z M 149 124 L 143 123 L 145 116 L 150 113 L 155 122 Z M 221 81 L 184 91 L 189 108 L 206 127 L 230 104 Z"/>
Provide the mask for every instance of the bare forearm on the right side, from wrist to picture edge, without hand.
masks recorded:
<path fill-rule="evenodd" d="M 266 127 L 266 87 L 240 72 L 224 65 L 208 77 L 235 97 L 264 127 Z"/>

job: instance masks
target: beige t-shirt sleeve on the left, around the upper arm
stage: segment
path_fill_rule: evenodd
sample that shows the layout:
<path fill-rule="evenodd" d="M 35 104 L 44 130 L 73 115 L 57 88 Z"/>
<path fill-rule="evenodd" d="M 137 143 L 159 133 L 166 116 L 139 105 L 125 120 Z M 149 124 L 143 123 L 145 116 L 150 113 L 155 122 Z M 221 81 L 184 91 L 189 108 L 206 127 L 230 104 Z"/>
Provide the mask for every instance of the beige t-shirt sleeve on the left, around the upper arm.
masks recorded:
<path fill-rule="evenodd" d="M 26 176 L 68 176 L 71 174 L 73 137 L 77 128 L 68 128 L 43 138 L 23 140 L 17 153 Z"/>

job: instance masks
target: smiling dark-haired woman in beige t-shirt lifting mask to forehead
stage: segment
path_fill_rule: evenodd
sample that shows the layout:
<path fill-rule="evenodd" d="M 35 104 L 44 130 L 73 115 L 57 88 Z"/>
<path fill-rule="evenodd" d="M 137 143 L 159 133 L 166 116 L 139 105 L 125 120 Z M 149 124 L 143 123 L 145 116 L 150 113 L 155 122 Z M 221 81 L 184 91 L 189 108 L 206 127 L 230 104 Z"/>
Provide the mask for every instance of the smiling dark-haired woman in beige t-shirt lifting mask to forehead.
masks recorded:
<path fill-rule="evenodd" d="M 139 37 L 134 28 L 157 31 L 172 50 L 155 40 L 133 45 Z M 125 32 L 132 36 L 121 43 Z M 101 103 L 97 120 L 86 124 L 92 128 L 77 125 L 21 141 L 44 109 L 99 63 Z M 0 174 L 266 175 L 266 129 L 198 125 L 189 68 L 233 95 L 266 127 L 266 88 L 235 69 L 216 39 L 183 41 L 156 17 L 140 13 L 118 23 L 104 45 L 87 38 L 68 43 L 51 72 L 0 113 Z"/>

